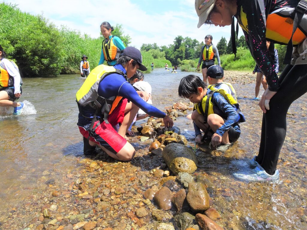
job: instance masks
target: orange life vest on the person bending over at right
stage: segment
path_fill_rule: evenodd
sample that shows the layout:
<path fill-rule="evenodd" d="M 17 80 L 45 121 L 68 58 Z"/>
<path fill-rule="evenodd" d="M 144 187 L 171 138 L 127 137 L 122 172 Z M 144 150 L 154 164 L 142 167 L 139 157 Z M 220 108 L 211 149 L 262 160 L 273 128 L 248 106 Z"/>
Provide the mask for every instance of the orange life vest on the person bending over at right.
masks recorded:
<path fill-rule="evenodd" d="M 282 7 L 268 15 L 266 19 L 266 39 L 278 44 L 288 44 L 293 32 L 293 19 L 290 16 L 294 15 L 294 10 L 294 8 Z M 242 6 L 239 25 L 248 33 L 247 17 Z M 292 37 L 293 45 L 300 44 L 306 39 L 307 31 L 304 31 L 304 29 L 307 30 L 307 27 L 302 23 L 297 27 Z"/>

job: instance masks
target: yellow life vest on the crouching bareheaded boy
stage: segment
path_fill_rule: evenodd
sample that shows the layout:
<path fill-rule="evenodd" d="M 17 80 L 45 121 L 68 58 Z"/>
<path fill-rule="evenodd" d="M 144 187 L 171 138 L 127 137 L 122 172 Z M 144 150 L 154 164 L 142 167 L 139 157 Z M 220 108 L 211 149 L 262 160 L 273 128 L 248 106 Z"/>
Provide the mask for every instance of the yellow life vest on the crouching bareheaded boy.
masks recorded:
<path fill-rule="evenodd" d="M 214 111 L 213 111 L 213 103 L 212 103 L 212 95 L 215 93 L 215 92 L 218 92 L 220 93 L 225 99 L 226 101 L 231 104 L 231 105 L 237 105 L 236 107 L 239 108 L 239 104 L 238 102 L 235 100 L 235 98 L 233 98 L 231 96 L 231 94 L 227 94 L 225 92 L 225 90 L 223 89 L 215 89 L 213 87 L 213 85 L 211 85 L 209 87 L 209 90 L 211 90 L 209 93 L 207 93 L 204 98 L 201 100 L 201 102 L 199 103 L 195 103 L 194 104 L 194 110 L 196 109 L 197 112 L 199 114 L 202 114 L 204 115 L 204 123 L 207 123 L 207 118 L 210 114 L 213 114 Z"/>

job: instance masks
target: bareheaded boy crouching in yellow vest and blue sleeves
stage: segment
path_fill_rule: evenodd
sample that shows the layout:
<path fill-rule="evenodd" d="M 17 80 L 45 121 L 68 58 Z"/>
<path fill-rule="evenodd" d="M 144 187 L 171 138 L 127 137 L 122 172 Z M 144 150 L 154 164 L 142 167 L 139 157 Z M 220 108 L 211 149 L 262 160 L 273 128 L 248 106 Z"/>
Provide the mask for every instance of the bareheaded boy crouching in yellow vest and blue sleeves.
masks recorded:
<path fill-rule="evenodd" d="M 213 87 L 206 89 L 207 83 L 195 75 L 181 79 L 178 93 L 181 98 L 188 98 L 194 103 L 192 120 L 195 128 L 195 141 L 201 143 L 199 130 L 205 130 L 204 136 L 212 129 L 214 134 L 211 145 L 216 148 L 220 144 L 230 144 L 240 136 L 239 122 L 244 122 L 244 116 L 239 110 L 236 100 L 224 90 Z"/>

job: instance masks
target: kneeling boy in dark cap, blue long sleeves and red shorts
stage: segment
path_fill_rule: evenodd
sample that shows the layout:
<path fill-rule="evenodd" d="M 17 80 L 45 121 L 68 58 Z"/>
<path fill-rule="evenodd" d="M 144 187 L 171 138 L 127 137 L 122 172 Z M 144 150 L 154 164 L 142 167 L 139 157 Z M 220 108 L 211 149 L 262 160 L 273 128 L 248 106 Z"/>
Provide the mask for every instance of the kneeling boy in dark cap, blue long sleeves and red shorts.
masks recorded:
<path fill-rule="evenodd" d="M 102 69 L 103 65 L 96 68 Z M 105 69 L 109 68 L 105 66 Z M 79 119 L 77 125 L 84 138 L 89 140 L 89 145 L 100 147 L 116 160 L 130 161 L 135 155 L 135 149 L 127 142 L 125 134 L 139 108 L 153 117 L 163 118 L 166 127 L 173 126 L 173 120 L 164 112 L 146 103 L 150 98 L 149 94 L 136 91 L 127 81 L 135 74 L 137 69 L 141 71 L 147 70 L 142 65 L 142 55 L 138 49 L 127 47 L 122 50 L 116 65 L 111 68 L 116 71 L 114 72 L 113 70 L 111 73 L 107 73 L 99 82 L 97 89 L 97 100 L 103 98 L 103 100 L 106 99 L 106 102 L 111 101 L 108 102 L 109 106 L 105 103 L 102 104 L 101 108 L 103 109 L 100 111 L 90 105 L 83 106 L 78 103 Z M 95 73 L 95 69 L 92 72 Z M 90 77 L 91 75 L 87 79 Z M 80 90 L 82 88 L 83 86 L 81 86 Z M 91 91 L 88 91 L 87 94 L 91 97 Z M 98 117 L 97 121 L 92 119 L 95 114 Z M 108 115 L 107 119 L 106 114 Z M 113 126 L 118 123 L 121 126 L 116 132 Z"/>

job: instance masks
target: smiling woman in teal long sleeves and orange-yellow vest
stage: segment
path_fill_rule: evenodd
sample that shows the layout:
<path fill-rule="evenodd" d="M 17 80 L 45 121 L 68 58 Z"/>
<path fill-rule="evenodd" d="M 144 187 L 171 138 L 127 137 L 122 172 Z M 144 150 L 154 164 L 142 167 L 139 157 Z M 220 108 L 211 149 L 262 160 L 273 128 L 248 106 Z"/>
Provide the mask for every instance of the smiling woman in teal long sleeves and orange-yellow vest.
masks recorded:
<path fill-rule="evenodd" d="M 101 55 L 98 65 L 107 61 L 108 66 L 114 66 L 119 58 L 119 53 L 125 48 L 119 37 L 112 35 L 114 31 L 109 22 L 104 21 L 100 25 L 100 31 L 105 38 L 102 42 Z"/>

